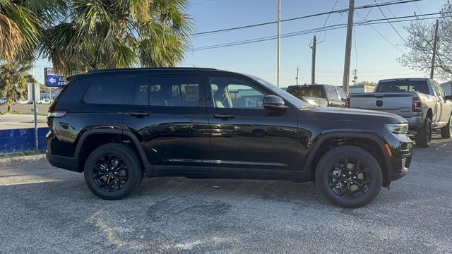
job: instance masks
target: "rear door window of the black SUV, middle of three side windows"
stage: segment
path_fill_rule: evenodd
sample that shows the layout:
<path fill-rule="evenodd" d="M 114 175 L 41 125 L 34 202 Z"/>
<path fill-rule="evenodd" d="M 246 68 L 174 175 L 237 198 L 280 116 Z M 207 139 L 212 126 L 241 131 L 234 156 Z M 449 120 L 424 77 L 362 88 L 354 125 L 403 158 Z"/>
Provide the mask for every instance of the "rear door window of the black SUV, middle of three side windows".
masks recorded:
<path fill-rule="evenodd" d="M 200 77 L 139 78 L 133 104 L 162 107 L 200 107 Z"/>

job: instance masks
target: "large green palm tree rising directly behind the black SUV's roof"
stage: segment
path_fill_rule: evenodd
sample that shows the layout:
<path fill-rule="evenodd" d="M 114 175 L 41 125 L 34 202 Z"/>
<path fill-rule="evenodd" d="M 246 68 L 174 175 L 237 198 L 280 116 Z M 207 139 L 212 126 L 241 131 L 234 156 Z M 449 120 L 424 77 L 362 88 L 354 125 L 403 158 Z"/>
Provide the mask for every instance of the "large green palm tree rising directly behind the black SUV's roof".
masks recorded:
<path fill-rule="evenodd" d="M 0 0 L 1 1 L 1 0 Z M 186 0 L 72 0 L 69 14 L 44 30 L 40 54 L 56 71 L 175 66 L 191 33 Z"/>

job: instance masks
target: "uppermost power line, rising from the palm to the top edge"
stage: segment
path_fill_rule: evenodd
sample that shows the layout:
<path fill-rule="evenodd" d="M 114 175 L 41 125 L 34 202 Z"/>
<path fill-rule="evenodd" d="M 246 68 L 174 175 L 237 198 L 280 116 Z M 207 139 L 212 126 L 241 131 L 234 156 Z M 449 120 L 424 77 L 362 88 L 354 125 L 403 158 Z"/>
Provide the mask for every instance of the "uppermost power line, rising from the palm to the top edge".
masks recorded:
<path fill-rule="evenodd" d="M 359 9 L 363 9 L 363 8 L 373 8 L 373 7 L 377 7 L 377 6 L 390 6 L 390 5 L 394 5 L 394 4 L 406 4 L 406 3 L 411 3 L 411 2 L 415 2 L 415 1 L 422 1 L 422 0 L 396 0 L 396 1 L 389 1 L 386 2 L 384 4 L 374 4 L 374 5 L 364 5 L 364 6 L 358 6 L 355 8 L 355 10 L 359 10 Z M 341 9 L 341 10 L 337 10 L 337 11 L 328 11 L 328 12 L 324 12 L 324 13 L 315 13 L 315 14 L 310 14 L 307 16 L 300 16 L 300 17 L 296 17 L 296 18 L 287 18 L 285 20 L 281 20 L 281 22 L 286 22 L 286 21 L 292 21 L 292 20 L 299 20 L 299 19 L 303 19 L 303 18 L 312 18 L 312 17 L 316 17 L 316 16 L 323 16 L 323 15 L 327 15 L 327 14 L 331 14 L 331 13 L 344 13 L 347 12 L 348 9 Z M 235 27 L 235 28 L 225 28 L 225 29 L 219 29 L 219 30 L 212 30 L 212 31 L 206 31 L 206 32 L 197 32 L 194 34 L 191 34 L 191 36 L 197 36 L 197 35 L 207 35 L 207 34 L 213 34 L 213 33 L 218 33 L 218 32 L 227 32 L 227 31 L 232 31 L 232 30 L 239 30 L 239 29 L 244 29 L 244 28 L 255 28 L 261 25 L 270 25 L 270 24 L 275 24 L 278 23 L 278 21 L 270 21 L 270 22 L 266 22 L 266 23 L 258 23 L 258 24 L 254 24 L 254 25 L 242 25 L 239 27 Z"/>

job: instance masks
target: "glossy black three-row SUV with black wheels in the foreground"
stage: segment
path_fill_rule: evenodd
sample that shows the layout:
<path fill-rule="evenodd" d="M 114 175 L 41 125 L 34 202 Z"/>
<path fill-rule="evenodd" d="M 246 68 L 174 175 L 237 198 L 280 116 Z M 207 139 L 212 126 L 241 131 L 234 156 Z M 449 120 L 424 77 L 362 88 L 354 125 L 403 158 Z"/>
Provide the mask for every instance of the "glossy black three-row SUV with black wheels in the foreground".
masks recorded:
<path fill-rule="evenodd" d="M 313 108 L 251 75 L 212 68 L 129 68 L 69 78 L 49 109 L 47 159 L 84 172 L 100 198 L 143 174 L 316 181 L 360 207 L 404 176 L 412 142 L 394 114 Z"/>

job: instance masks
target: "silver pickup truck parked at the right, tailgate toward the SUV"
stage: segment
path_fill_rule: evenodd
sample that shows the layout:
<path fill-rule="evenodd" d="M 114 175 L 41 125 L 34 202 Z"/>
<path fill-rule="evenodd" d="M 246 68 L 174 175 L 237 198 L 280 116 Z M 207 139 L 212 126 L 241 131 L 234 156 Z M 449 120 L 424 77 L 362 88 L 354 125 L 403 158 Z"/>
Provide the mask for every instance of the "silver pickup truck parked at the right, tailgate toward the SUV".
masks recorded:
<path fill-rule="evenodd" d="M 350 94 L 350 107 L 386 111 L 408 120 L 416 145 L 428 147 L 432 132 L 441 128 L 443 138 L 451 138 L 452 96 L 429 78 L 380 80 L 372 93 Z"/>

